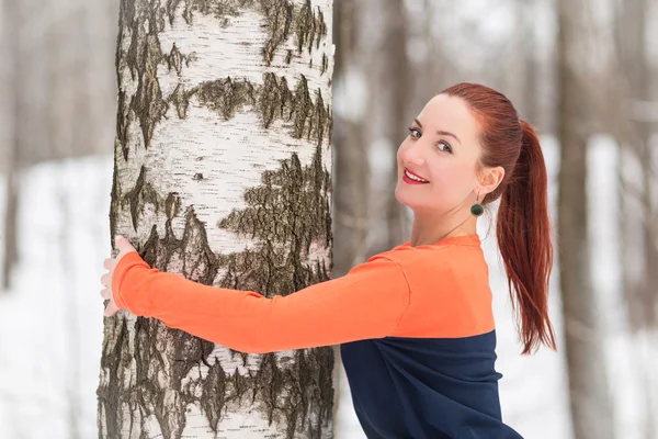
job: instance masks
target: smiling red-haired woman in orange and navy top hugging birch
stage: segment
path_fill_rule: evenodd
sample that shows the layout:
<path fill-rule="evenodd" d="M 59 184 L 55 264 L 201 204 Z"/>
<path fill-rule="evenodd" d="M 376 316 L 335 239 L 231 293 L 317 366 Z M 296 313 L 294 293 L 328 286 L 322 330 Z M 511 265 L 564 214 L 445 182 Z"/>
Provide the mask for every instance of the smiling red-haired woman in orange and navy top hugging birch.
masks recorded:
<path fill-rule="evenodd" d="M 397 153 L 410 240 L 294 294 L 206 286 L 158 272 L 125 238 L 101 292 L 118 308 L 245 352 L 341 345 L 368 438 L 520 438 L 501 421 L 489 274 L 476 221 L 501 199 L 497 237 L 523 353 L 555 349 L 546 168 L 537 136 L 499 92 L 453 86 L 430 100 Z"/>

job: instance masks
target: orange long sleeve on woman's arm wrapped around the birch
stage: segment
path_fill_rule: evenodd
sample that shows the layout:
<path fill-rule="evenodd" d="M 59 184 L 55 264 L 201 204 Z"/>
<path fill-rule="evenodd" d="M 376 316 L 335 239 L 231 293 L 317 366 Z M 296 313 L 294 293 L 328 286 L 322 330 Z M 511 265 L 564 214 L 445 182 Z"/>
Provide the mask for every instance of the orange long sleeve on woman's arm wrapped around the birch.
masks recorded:
<path fill-rule="evenodd" d="M 338 345 L 395 331 L 409 305 L 400 266 L 373 257 L 286 296 L 204 285 L 125 255 L 112 279 L 120 308 L 241 352 Z"/>

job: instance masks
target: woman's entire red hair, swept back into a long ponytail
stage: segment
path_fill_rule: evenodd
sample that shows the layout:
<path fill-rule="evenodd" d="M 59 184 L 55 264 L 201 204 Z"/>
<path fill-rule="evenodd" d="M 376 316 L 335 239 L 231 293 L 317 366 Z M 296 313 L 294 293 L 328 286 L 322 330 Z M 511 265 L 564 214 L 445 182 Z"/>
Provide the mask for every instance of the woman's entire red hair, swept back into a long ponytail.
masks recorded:
<path fill-rule="evenodd" d="M 463 99 L 480 125 L 480 166 L 502 167 L 504 178 L 483 204 L 500 198 L 496 235 L 523 353 L 541 344 L 556 349 L 548 318 L 553 245 L 548 219 L 546 165 L 535 130 L 512 103 L 488 87 L 462 82 L 441 92 Z"/>

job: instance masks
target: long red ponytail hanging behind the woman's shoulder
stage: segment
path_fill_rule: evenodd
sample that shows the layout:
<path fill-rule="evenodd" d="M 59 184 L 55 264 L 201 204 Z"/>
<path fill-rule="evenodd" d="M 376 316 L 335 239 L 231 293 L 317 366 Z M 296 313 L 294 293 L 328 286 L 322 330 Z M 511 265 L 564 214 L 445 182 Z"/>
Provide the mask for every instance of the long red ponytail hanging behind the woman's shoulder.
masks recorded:
<path fill-rule="evenodd" d="M 546 165 L 534 128 L 522 120 L 521 127 L 521 153 L 501 193 L 496 234 L 526 354 L 541 344 L 556 345 L 548 319 L 553 247 Z"/>

